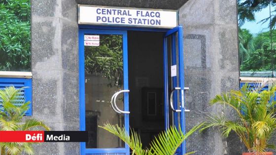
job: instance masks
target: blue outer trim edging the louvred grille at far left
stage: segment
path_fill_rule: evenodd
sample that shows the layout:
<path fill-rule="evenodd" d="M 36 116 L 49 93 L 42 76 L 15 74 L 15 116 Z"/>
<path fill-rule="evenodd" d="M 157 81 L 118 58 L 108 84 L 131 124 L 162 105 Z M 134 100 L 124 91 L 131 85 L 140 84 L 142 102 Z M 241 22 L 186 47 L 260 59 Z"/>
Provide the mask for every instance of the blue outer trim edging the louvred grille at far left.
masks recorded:
<path fill-rule="evenodd" d="M 27 79 L 27 78 L 0 78 L 0 82 L 6 82 L 6 83 L 11 83 L 11 84 L 24 83 L 24 87 L 27 87 L 27 88 L 24 89 L 24 91 L 25 91 L 24 95 L 25 95 L 26 102 L 27 101 L 31 102 L 29 104 L 30 108 L 25 113 L 25 116 L 32 116 L 33 115 L 32 79 Z"/>

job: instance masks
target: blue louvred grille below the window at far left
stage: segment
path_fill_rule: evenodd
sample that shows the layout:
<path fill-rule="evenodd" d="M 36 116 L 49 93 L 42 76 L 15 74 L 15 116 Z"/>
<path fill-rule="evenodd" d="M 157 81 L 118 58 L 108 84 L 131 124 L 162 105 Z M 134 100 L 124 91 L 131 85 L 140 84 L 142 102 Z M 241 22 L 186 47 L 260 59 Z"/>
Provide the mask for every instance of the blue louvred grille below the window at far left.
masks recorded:
<path fill-rule="evenodd" d="M 22 92 L 22 99 L 25 98 L 26 102 L 30 101 L 30 108 L 26 112 L 25 116 L 32 116 L 32 79 L 27 78 L 0 78 L 0 89 L 4 89 L 9 86 L 14 86 L 19 89 L 27 87 Z"/>

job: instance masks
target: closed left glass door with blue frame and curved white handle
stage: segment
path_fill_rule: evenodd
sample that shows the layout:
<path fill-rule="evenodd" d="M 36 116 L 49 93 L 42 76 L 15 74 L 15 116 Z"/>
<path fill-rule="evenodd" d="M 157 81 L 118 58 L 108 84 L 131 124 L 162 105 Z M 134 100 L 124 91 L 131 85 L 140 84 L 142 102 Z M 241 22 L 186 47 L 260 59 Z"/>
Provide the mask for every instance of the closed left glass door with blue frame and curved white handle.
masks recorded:
<path fill-rule="evenodd" d="M 129 147 L 99 125 L 129 130 L 127 31 L 80 30 L 81 155 L 129 155 Z"/>

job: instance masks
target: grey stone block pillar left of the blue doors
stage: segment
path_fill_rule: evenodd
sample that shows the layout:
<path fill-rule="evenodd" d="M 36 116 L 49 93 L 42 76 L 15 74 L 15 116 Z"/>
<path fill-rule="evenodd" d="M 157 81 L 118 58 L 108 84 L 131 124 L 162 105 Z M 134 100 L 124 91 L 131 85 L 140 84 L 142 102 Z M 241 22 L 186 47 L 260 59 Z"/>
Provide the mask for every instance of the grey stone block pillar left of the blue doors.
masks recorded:
<path fill-rule="evenodd" d="M 33 117 L 51 130 L 79 130 L 75 0 L 32 0 Z M 35 144 L 35 155 L 78 155 L 79 143 Z"/>

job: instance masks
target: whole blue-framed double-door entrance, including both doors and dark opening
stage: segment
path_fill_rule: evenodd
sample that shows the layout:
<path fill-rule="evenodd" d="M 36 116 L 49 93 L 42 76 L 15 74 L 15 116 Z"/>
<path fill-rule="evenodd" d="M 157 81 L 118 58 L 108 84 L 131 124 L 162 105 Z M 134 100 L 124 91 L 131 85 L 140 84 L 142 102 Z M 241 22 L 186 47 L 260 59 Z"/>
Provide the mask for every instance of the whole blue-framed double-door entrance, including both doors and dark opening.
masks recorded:
<path fill-rule="evenodd" d="M 134 128 L 144 146 L 170 125 L 185 132 L 182 27 L 116 29 L 79 29 L 81 155 L 130 155 L 99 127 L 108 122 Z"/>

